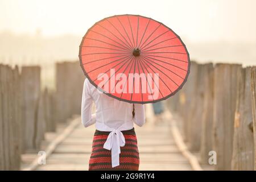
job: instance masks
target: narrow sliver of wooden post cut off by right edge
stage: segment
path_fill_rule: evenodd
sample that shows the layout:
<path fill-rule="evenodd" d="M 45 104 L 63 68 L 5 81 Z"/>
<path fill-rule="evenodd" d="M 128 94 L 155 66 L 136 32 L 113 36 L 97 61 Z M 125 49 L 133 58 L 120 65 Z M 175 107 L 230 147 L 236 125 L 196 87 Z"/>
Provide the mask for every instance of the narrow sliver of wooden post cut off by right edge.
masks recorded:
<path fill-rule="evenodd" d="M 251 99 L 253 110 L 254 170 L 256 170 L 256 67 L 251 68 Z"/>

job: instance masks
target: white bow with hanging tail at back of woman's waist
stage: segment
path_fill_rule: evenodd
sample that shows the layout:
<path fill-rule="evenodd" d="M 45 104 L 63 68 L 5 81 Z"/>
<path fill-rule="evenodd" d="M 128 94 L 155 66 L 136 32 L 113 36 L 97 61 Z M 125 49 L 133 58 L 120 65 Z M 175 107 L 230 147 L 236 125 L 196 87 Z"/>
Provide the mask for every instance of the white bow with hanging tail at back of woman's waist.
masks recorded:
<path fill-rule="evenodd" d="M 125 146 L 125 137 L 123 133 L 117 129 L 110 132 L 103 148 L 111 150 L 112 167 L 119 166 L 120 147 Z"/>

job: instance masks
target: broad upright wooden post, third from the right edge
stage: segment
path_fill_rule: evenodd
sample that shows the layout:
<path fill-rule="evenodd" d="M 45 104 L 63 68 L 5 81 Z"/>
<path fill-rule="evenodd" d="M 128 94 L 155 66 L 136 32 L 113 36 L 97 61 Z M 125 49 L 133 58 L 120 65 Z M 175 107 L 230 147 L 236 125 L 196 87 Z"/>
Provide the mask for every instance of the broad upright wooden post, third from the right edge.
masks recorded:
<path fill-rule="evenodd" d="M 214 68 L 213 146 L 217 170 L 230 170 L 233 150 L 237 78 L 241 65 L 216 64 Z"/>

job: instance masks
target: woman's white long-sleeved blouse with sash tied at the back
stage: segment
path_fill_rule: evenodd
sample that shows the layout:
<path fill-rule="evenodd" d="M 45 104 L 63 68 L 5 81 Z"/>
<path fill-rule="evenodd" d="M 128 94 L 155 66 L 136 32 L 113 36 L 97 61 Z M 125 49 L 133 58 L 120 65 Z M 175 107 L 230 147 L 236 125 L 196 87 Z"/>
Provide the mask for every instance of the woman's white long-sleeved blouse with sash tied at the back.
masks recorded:
<path fill-rule="evenodd" d="M 93 101 L 96 105 L 95 114 L 92 114 Z M 111 150 L 112 167 L 119 166 L 120 147 L 125 146 L 125 137 L 121 131 L 133 129 L 133 122 L 138 126 L 145 123 L 144 105 L 134 104 L 134 110 L 133 118 L 133 104 L 101 93 L 85 78 L 81 105 L 82 125 L 88 127 L 96 123 L 97 130 L 110 131 L 104 148 Z"/>

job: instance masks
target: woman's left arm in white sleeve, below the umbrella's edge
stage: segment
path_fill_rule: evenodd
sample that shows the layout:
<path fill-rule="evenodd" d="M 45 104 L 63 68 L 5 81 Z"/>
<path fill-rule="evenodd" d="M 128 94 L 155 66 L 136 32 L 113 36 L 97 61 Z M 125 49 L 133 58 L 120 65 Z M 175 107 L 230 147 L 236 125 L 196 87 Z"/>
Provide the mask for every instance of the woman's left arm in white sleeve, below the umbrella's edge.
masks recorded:
<path fill-rule="evenodd" d="M 84 81 L 84 89 L 82 90 L 81 118 L 82 125 L 88 127 L 96 122 L 95 114 L 92 114 L 92 95 L 89 88 L 89 80 Z"/>

